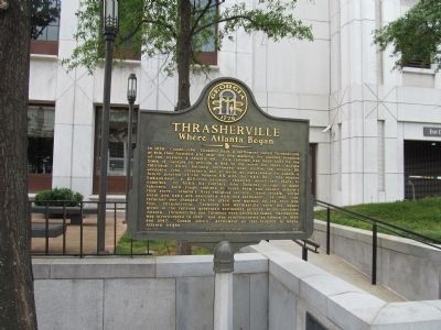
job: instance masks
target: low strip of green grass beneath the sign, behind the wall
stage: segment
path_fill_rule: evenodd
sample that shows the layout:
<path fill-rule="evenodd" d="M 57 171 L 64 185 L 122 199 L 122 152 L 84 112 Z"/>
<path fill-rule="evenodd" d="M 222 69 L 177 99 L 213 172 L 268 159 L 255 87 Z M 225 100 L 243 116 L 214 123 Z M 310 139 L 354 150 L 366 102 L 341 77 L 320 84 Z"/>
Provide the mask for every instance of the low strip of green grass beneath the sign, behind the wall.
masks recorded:
<path fill-rule="evenodd" d="M 176 241 L 135 241 L 133 254 L 146 254 L 150 251 L 153 255 L 175 255 Z M 125 233 L 118 241 L 117 254 L 130 254 L 130 238 Z M 205 248 L 192 245 L 192 254 L 211 254 Z"/>

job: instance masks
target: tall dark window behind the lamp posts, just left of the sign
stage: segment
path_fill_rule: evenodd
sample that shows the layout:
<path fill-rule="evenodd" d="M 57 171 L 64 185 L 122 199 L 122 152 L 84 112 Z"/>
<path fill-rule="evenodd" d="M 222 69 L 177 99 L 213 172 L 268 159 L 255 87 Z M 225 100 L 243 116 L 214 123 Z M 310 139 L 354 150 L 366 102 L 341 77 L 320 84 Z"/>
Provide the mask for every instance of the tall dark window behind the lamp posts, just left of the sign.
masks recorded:
<path fill-rule="evenodd" d="M 101 145 L 101 114 L 103 107 L 96 108 L 95 123 L 95 170 L 94 170 L 94 194 L 99 190 L 99 169 L 100 169 L 100 145 Z M 128 146 L 128 108 L 111 107 L 109 113 L 109 150 L 107 154 L 107 193 L 126 193 L 126 170 Z M 133 113 L 131 130 L 132 150 L 137 141 L 137 110 Z"/>

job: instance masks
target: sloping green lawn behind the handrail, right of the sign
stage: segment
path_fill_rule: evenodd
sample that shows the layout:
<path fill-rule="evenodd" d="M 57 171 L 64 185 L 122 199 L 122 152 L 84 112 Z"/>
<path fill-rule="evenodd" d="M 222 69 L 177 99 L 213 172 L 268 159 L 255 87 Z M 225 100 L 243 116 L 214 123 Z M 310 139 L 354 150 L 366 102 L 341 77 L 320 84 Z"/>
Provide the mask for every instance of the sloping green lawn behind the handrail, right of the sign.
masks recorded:
<path fill-rule="evenodd" d="M 365 204 L 346 209 L 373 217 L 441 242 L 441 197 L 381 204 Z M 326 220 L 326 210 L 315 211 L 315 219 Z M 372 229 L 369 223 L 331 211 L 331 222 Z M 380 230 L 389 233 L 387 231 Z"/>

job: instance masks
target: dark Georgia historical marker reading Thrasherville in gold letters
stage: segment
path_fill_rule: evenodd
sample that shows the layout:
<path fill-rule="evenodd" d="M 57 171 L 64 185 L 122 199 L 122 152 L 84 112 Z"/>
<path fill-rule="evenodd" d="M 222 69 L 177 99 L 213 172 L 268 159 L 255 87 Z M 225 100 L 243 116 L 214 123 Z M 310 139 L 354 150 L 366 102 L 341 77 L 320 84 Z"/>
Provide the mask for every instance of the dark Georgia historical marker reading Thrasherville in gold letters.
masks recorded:
<path fill-rule="evenodd" d="M 140 111 L 129 196 L 136 239 L 233 243 L 312 232 L 309 122 L 265 113 L 217 79 L 196 105 Z"/>

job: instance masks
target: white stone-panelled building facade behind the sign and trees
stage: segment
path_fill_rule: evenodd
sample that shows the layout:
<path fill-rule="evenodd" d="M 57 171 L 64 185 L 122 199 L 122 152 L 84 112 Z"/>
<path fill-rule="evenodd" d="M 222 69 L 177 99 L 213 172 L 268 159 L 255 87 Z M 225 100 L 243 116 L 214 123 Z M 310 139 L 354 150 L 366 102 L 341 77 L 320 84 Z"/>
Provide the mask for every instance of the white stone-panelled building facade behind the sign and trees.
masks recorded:
<path fill-rule="evenodd" d="M 235 1 L 222 6 L 230 2 Z M 252 7 L 257 1 L 247 2 Z M 437 174 L 440 75 L 432 68 L 392 70 L 389 53 L 378 52 L 373 43 L 373 31 L 413 2 L 301 0 L 295 13 L 312 25 L 313 42 L 275 43 L 260 33 L 237 31 L 234 41 L 226 40 L 217 52 L 217 65 L 208 76 L 192 77 L 192 101 L 211 79 L 228 76 L 248 85 L 263 111 L 310 120 L 318 199 L 354 205 L 434 195 L 441 178 Z M 75 46 L 78 6 L 78 0 L 62 0 L 60 31 L 52 37 L 56 40 L 32 45 L 30 193 L 69 187 L 89 199 L 98 189 L 103 68 L 89 75 L 85 68 L 66 72 L 60 64 Z M 175 107 L 176 77 L 162 73 L 162 64 L 161 58 L 141 58 L 114 66 L 110 195 L 123 196 L 129 74 L 138 77 L 139 109 L 172 111 Z"/>

